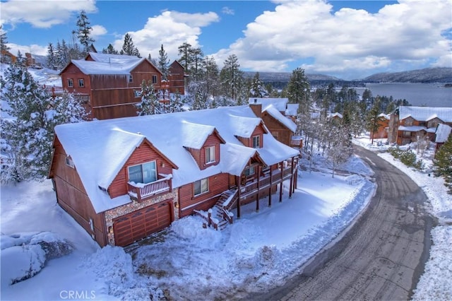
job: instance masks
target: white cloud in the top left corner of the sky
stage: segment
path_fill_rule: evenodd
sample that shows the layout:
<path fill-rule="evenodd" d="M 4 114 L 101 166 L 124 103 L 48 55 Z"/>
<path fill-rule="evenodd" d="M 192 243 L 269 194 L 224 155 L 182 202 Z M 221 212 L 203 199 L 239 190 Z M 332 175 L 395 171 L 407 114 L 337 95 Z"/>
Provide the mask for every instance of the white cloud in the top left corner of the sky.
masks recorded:
<path fill-rule="evenodd" d="M 97 11 L 95 1 L 20 1 L 1 2 L 1 24 L 30 23 L 36 28 L 50 28 L 65 23 L 73 13 Z"/>

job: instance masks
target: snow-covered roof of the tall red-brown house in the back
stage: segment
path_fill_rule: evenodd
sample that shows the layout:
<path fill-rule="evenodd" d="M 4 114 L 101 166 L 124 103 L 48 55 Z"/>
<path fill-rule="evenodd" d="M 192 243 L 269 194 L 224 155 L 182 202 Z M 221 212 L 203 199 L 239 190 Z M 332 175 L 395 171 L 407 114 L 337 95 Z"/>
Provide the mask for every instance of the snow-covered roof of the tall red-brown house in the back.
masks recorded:
<path fill-rule="evenodd" d="M 145 59 L 131 57 L 129 60 L 119 60 L 116 62 L 85 61 L 84 59 L 73 59 L 72 64 L 76 65 L 85 74 L 130 74 L 136 66 Z"/>

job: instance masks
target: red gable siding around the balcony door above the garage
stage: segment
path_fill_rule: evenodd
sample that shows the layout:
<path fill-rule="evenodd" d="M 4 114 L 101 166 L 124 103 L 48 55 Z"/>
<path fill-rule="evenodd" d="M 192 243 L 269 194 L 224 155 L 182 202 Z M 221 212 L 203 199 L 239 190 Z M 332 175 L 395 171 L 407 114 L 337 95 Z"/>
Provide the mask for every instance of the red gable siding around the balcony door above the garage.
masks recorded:
<path fill-rule="evenodd" d="M 130 158 L 124 164 L 124 167 L 119 170 L 118 175 L 114 178 L 112 184 L 108 188 L 110 197 L 113 199 L 117 196 L 128 194 L 127 182 L 129 182 L 129 170 L 128 167 L 132 165 L 143 164 L 146 162 L 154 161 L 158 174 L 169 175 L 172 174 L 172 167 L 169 165 L 165 158 L 155 151 L 147 142 L 143 141 L 141 146 L 138 146 L 132 153 Z M 163 165 L 165 166 L 162 166 Z M 171 181 L 171 180 L 169 180 Z"/>

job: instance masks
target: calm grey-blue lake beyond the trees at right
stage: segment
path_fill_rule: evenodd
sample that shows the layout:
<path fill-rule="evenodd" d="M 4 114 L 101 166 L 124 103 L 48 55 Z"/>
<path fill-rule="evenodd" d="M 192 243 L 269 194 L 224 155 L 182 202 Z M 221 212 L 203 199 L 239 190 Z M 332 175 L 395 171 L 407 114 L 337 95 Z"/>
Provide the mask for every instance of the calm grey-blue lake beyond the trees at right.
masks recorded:
<path fill-rule="evenodd" d="M 392 95 L 413 106 L 452 107 L 452 88 L 444 88 L 444 83 L 367 83 L 366 88 L 374 97 Z M 355 89 L 362 95 L 366 88 Z"/>

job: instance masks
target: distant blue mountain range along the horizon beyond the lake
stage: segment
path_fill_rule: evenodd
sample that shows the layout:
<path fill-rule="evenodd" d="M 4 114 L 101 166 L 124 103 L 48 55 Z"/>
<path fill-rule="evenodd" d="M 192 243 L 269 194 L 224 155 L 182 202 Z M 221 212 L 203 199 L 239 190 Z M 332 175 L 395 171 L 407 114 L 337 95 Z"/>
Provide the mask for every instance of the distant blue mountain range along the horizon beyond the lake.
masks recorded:
<path fill-rule="evenodd" d="M 253 78 L 256 72 L 246 71 L 246 78 Z M 259 72 L 259 78 L 264 83 L 288 83 L 292 72 Z M 341 78 L 324 74 L 306 73 L 312 83 L 452 83 L 452 68 L 438 67 L 403 72 L 376 73 L 367 78 L 355 81 L 345 81 Z"/>

